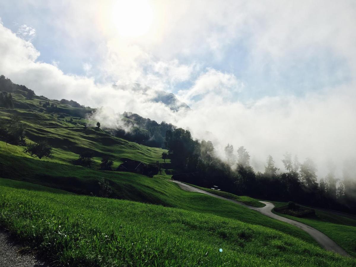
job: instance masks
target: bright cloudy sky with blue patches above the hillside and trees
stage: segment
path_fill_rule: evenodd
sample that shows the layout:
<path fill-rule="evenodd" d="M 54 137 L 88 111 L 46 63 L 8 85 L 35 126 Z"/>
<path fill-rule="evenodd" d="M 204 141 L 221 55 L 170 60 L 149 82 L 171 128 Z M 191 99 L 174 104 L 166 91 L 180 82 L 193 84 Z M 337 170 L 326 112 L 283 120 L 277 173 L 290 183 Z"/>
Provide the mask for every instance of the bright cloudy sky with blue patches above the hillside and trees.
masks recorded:
<path fill-rule="evenodd" d="M 356 156 L 355 1 L 0 0 L 0 21 L 0 74 L 101 107 L 103 126 L 124 111 L 165 120 L 222 158 L 245 146 L 260 171 L 289 151 L 341 175 Z"/>

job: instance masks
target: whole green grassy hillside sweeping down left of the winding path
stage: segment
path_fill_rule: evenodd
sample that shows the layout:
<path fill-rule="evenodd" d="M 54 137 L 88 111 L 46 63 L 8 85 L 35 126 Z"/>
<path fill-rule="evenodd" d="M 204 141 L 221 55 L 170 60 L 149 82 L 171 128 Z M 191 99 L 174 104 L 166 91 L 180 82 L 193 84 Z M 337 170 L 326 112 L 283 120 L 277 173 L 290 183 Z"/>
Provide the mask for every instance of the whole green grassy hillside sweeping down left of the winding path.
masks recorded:
<path fill-rule="evenodd" d="M 31 157 L 24 147 L 0 141 L 0 178 L 6 178 L 0 179 L 0 225 L 33 242 L 58 263 L 355 265 L 351 259 L 322 250 L 297 227 L 229 201 L 185 192 L 164 171 L 154 178 L 101 171 L 98 164 L 103 156 L 110 156 L 115 168 L 126 158 L 163 162 L 165 150 L 84 127 L 96 123 L 86 119 L 93 109 L 73 108 L 41 96 L 13 96 L 15 109 L 0 108 L 0 121 L 20 116 L 27 128 L 26 141 L 47 140 L 54 158 Z M 57 108 L 43 108 L 40 101 Z M 91 168 L 73 164 L 83 150 L 94 153 Z M 102 178 L 114 199 L 92 197 L 100 194 Z M 253 198 L 219 194 L 260 205 Z"/>

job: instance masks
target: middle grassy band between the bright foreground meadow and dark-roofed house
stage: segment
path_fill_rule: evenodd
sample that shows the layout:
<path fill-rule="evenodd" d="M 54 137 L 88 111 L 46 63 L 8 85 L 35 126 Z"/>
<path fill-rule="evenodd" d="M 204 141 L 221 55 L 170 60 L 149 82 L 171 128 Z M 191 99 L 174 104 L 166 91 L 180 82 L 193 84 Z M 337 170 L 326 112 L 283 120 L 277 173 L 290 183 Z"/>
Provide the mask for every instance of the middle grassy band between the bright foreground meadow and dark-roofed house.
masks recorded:
<path fill-rule="evenodd" d="M 148 178 L 126 172 L 103 172 L 47 159 L 40 160 L 23 153 L 21 147 L 6 146 L 4 142 L 0 142 L 0 169 L 3 170 L 2 178 L 22 180 L 82 194 L 98 193 L 98 181 L 101 177 L 105 177 L 109 180 L 116 197 L 121 199 L 200 211 L 264 225 L 315 244 L 307 233 L 297 227 L 273 220 L 257 211 L 229 201 L 185 192 L 177 184 L 162 178 Z"/>

